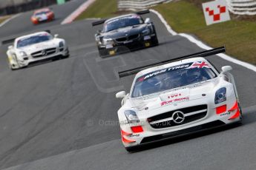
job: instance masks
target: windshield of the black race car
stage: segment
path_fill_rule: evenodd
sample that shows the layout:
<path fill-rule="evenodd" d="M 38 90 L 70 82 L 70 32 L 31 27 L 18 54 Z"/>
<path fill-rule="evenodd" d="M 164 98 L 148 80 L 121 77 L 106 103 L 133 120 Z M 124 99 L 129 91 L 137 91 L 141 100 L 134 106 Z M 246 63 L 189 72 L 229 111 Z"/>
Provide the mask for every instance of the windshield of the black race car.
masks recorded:
<path fill-rule="evenodd" d="M 142 24 L 143 20 L 140 16 L 129 16 L 125 18 L 118 18 L 114 21 L 109 21 L 104 25 L 103 32 L 107 33 L 112 30 L 117 30 L 122 27 L 129 27 L 138 24 Z"/>

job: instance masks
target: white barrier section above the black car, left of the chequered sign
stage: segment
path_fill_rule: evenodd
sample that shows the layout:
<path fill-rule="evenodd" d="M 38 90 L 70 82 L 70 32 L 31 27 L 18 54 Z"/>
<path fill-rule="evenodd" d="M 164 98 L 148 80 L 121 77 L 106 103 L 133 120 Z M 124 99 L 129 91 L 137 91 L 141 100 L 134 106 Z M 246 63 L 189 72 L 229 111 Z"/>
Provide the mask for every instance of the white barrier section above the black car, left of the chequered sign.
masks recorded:
<path fill-rule="evenodd" d="M 161 4 L 171 0 L 119 0 L 119 10 L 144 10 L 156 4 Z"/>

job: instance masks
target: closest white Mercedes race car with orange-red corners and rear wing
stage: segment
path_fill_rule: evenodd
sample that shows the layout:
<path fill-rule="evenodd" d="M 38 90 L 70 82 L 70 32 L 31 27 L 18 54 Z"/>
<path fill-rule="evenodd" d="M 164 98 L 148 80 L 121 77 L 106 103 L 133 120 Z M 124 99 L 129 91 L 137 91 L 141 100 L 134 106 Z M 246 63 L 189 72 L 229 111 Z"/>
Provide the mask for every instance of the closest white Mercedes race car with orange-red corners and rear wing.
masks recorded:
<path fill-rule="evenodd" d="M 128 152 L 145 143 L 241 122 L 232 67 L 218 72 L 203 58 L 224 51 L 220 47 L 119 72 L 119 77 L 138 72 L 130 93 L 116 93 L 122 98 L 118 118 Z"/>

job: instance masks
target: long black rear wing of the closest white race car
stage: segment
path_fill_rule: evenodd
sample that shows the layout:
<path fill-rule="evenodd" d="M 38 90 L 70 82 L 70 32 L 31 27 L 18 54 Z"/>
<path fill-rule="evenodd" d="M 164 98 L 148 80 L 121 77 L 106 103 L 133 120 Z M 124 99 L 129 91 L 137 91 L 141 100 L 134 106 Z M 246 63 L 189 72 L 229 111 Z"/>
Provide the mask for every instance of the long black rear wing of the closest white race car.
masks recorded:
<path fill-rule="evenodd" d="M 160 66 L 160 65 L 163 65 L 163 64 L 168 64 L 168 63 L 171 63 L 171 62 L 174 62 L 174 61 L 181 61 L 181 60 L 187 59 L 187 58 L 208 57 L 208 56 L 216 55 L 216 54 L 219 54 L 219 53 L 222 53 L 222 52 L 226 52 L 225 47 L 218 47 L 218 48 L 214 48 L 212 50 L 197 52 L 197 53 L 194 53 L 194 54 L 185 55 L 185 56 L 169 59 L 169 60 L 166 60 L 166 61 L 160 61 L 160 62 L 154 63 L 154 64 L 148 64 L 146 66 L 137 67 L 137 68 L 134 68 L 134 69 L 128 69 L 128 70 L 125 70 L 125 71 L 118 72 L 118 75 L 119 75 L 119 78 L 123 78 L 123 77 L 129 76 L 129 75 L 135 75 L 138 72 L 142 71 L 143 69 L 148 69 L 148 68 L 151 68 L 151 67 L 156 67 L 156 66 Z"/>

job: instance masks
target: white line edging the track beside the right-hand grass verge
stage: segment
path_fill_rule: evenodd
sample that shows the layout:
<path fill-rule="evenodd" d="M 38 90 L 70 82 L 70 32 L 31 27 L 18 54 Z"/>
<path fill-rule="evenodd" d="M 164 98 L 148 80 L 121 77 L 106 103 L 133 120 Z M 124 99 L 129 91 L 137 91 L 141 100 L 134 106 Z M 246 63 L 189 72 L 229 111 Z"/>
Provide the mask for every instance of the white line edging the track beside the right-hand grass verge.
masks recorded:
<path fill-rule="evenodd" d="M 191 35 L 188 35 L 188 34 L 185 34 L 185 33 L 176 33 L 174 30 L 171 29 L 170 25 L 167 23 L 167 21 L 165 21 L 165 18 L 163 18 L 163 16 L 158 13 L 156 10 L 150 10 L 152 13 L 155 13 L 159 18 L 160 20 L 163 22 L 163 24 L 165 25 L 166 29 L 168 30 L 169 33 L 171 33 L 171 35 L 180 35 L 180 36 L 183 36 L 185 38 L 188 39 L 188 41 L 191 41 L 192 43 L 194 44 L 197 44 L 198 47 L 204 49 L 204 50 L 211 50 L 212 47 L 209 47 L 207 46 L 206 44 L 204 44 L 202 41 L 199 41 L 197 40 L 196 38 L 194 38 L 193 36 Z M 217 54 L 220 58 L 223 58 L 224 60 L 226 61 L 230 61 L 234 64 L 238 64 L 242 67 L 246 67 L 247 69 L 251 69 L 252 71 L 256 72 L 256 67 L 252 64 L 249 64 L 249 63 L 246 63 L 244 61 L 240 61 L 240 60 L 237 60 L 236 58 L 232 58 L 231 56 L 229 55 L 226 55 L 226 54 Z"/>

